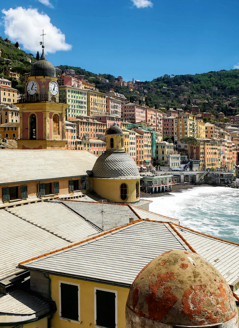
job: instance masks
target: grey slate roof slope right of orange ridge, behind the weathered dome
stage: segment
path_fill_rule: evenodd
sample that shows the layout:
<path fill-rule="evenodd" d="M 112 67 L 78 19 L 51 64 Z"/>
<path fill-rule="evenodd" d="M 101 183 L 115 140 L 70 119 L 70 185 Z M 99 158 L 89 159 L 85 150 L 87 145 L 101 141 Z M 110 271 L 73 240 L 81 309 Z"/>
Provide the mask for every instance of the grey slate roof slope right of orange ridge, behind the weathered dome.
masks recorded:
<path fill-rule="evenodd" d="M 215 266 L 229 285 L 239 281 L 239 246 L 188 229 L 175 228 L 199 255 Z"/>

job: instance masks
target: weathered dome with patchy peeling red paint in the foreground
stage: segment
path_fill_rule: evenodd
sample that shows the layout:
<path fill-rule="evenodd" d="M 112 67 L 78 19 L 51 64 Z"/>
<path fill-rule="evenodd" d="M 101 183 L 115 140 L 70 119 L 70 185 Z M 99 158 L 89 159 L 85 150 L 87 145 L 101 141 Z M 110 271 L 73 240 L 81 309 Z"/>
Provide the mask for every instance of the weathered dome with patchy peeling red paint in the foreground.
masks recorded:
<path fill-rule="evenodd" d="M 237 327 L 229 285 L 202 256 L 183 250 L 153 259 L 135 278 L 126 303 L 126 327 Z"/>

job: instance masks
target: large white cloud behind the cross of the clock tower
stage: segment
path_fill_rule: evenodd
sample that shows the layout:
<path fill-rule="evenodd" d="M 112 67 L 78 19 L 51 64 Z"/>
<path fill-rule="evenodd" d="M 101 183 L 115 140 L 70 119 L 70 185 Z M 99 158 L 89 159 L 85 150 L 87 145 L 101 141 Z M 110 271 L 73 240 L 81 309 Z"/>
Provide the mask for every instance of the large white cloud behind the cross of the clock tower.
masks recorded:
<path fill-rule="evenodd" d="M 53 26 L 47 14 L 39 13 L 35 8 L 25 9 L 17 7 L 2 10 L 5 35 L 11 42 L 18 42 L 24 50 L 30 52 L 41 52 L 39 44 L 42 41 L 42 30 L 44 29 L 45 53 L 54 53 L 59 50 L 68 51 L 71 45 L 66 43 L 65 34 Z"/>

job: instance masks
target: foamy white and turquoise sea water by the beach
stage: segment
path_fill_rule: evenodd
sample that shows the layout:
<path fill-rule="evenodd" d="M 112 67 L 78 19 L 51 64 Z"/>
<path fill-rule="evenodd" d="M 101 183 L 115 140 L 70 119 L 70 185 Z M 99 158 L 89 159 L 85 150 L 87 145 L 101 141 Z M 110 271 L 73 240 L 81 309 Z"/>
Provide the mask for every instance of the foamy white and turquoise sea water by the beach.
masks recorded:
<path fill-rule="evenodd" d="M 152 200 L 149 211 L 176 218 L 190 229 L 239 242 L 239 189 L 194 187 Z"/>

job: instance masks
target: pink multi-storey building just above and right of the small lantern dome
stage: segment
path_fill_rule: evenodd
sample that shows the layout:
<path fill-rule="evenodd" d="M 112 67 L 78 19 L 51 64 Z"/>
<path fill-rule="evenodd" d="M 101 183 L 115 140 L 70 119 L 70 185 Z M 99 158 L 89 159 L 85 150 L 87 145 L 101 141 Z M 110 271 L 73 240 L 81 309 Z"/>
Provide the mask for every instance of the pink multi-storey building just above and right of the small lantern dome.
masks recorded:
<path fill-rule="evenodd" d="M 146 107 L 136 104 L 125 104 L 123 106 L 123 119 L 130 123 L 146 122 Z"/>

